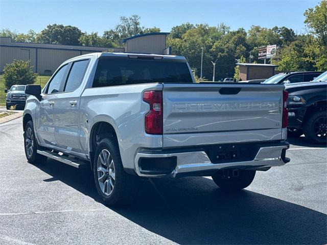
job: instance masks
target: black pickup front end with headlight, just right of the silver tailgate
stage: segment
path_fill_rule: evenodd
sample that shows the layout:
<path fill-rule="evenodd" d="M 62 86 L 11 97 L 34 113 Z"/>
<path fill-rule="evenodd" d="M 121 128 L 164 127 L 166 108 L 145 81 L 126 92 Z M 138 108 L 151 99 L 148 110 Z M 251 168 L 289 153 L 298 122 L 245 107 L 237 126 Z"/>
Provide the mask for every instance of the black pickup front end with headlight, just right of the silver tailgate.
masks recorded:
<path fill-rule="evenodd" d="M 299 137 L 304 133 L 314 143 L 327 143 L 326 77 L 324 80 L 286 86 L 289 93 L 287 101 L 289 137 Z"/>

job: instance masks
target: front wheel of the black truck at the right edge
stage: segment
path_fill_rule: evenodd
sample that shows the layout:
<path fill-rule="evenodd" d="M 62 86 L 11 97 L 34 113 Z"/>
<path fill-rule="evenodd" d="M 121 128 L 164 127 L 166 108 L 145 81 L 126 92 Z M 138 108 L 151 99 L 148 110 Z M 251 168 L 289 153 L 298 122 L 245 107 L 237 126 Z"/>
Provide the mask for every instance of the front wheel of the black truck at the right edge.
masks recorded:
<path fill-rule="evenodd" d="M 313 143 L 326 144 L 327 116 L 325 111 L 316 111 L 309 115 L 303 125 L 305 136 Z"/>

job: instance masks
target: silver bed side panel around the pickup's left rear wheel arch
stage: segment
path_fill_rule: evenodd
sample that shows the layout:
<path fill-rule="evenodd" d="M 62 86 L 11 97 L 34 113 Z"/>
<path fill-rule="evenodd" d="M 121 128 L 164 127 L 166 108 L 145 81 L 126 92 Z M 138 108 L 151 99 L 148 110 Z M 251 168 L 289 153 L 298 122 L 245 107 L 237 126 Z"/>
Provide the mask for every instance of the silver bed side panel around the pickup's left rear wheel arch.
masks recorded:
<path fill-rule="evenodd" d="M 91 129 L 101 121 L 108 122 L 115 129 L 126 168 L 134 168 L 139 148 L 162 148 L 162 135 L 145 133 L 144 116 L 149 105 L 143 102 L 143 92 L 149 90 L 162 90 L 162 84 L 85 89 L 80 104 L 81 152 L 89 154 Z"/>

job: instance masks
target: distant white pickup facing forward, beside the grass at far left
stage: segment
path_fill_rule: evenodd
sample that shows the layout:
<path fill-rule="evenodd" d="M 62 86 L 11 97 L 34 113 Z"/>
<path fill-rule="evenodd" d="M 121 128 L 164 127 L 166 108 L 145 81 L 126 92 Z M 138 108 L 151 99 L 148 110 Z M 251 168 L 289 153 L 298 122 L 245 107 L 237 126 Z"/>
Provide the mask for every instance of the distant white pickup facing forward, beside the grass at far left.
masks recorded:
<path fill-rule="evenodd" d="M 5 89 L 6 96 L 6 108 L 9 110 L 11 106 L 16 106 L 16 108 L 24 109 L 26 103 L 25 94 L 26 85 L 12 85 L 11 88 Z"/>

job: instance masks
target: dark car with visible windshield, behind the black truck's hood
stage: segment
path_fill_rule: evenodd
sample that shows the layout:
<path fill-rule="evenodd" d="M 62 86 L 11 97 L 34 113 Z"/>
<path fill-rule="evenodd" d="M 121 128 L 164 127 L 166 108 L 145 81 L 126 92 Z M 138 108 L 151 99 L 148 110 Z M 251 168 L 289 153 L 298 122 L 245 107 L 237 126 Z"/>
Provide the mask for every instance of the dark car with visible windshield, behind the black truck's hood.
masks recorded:
<path fill-rule="evenodd" d="M 271 78 L 266 79 L 263 84 L 287 84 L 287 83 L 303 83 L 310 82 L 317 78 L 322 71 L 299 71 L 279 73 Z"/>

